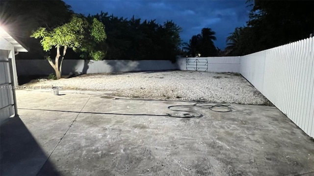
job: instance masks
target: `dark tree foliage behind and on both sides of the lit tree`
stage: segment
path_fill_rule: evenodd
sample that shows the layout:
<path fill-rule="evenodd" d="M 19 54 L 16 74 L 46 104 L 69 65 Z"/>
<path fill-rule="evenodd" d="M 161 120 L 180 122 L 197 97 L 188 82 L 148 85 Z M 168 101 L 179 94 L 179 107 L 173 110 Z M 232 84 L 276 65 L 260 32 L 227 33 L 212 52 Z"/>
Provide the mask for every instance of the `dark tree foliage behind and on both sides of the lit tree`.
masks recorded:
<path fill-rule="evenodd" d="M 69 22 L 74 12 L 62 0 L 1 0 L 1 25 L 9 29 L 9 33 L 18 37 L 30 51 L 20 53 L 17 59 L 44 59 L 54 57 L 55 48 L 44 52 L 39 40 L 30 38 L 31 32 L 38 27 L 48 30 Z M 83 18 L 83 15 L 78 15 Z M 86 18 L 93 18 L 105 24 L 107 40 L 103 44 L 93 45 L 96 49 L 107 50 L 105 59 L 113 60 L 171 60 L 175 62 L 180 54 L 181 27 L 172 21 L 158 24 L 155 20 L 143 21 L 118 18 L 101 12 Z M 66 59 L 78 59 L 79 55 L 90 59 L 86 53 L 76 54 L 71 48 Z"/>

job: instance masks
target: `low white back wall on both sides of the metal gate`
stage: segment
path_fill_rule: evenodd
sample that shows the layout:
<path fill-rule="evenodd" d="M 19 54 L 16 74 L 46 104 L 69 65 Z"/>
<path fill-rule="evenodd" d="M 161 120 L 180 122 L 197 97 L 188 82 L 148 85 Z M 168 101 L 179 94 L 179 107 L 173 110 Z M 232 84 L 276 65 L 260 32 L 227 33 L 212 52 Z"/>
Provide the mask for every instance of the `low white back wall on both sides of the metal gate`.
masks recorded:
<path fill-rule="evenodd" d="M 195 59 L 195 58 L 189 58 Z M 239 72 L 240 57 L 207 57 L 209 72 Z M 18 75 L 49 75 L 54 73 L 46 60 L 17 60 Z M 186 70 L 186 58 L 178 58 L 176 63 L 165 60 L 64 60 L 62 74 L 70 72 L 108 73 L 121 71 Z"/>

